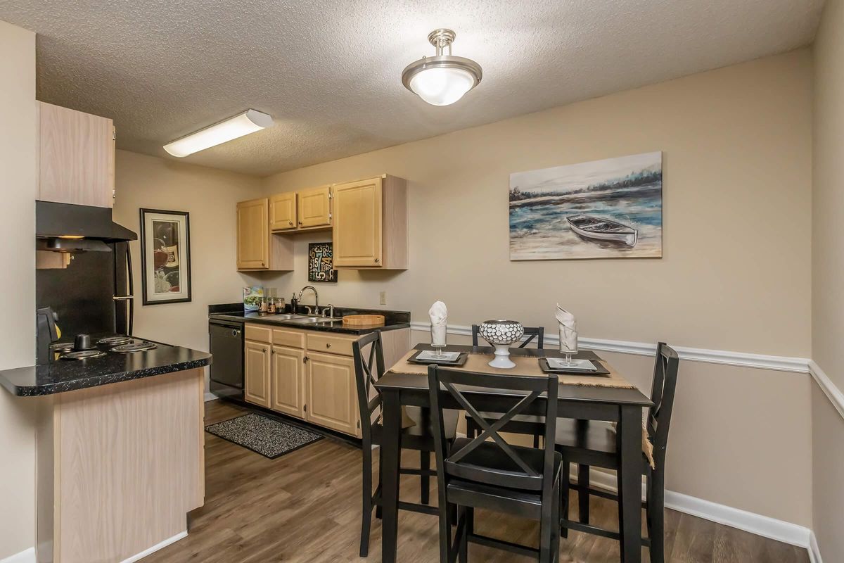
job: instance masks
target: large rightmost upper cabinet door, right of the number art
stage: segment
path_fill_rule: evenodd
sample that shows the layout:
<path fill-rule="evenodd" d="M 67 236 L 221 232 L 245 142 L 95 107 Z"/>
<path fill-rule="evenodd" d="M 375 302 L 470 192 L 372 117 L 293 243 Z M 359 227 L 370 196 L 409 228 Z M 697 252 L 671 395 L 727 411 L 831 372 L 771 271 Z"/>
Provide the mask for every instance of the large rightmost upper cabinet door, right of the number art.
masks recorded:
<path fill-rule="evenodd" d="M 381 178 L 334 186 L 334 266 L 381 266 Z"/>

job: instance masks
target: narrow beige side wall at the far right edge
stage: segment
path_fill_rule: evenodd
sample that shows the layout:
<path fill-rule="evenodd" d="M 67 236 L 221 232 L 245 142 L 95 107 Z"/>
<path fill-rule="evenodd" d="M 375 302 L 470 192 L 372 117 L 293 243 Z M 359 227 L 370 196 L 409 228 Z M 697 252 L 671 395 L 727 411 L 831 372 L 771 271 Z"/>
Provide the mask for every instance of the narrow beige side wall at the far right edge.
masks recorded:
<path fill-rule="evenodd" d="M 828 0 L 814 45 L 812 357 L 844 389 L 844 2 Z M 813 391 L 814 532 L 825 561 L 844 561 L 844 420 Z"/>

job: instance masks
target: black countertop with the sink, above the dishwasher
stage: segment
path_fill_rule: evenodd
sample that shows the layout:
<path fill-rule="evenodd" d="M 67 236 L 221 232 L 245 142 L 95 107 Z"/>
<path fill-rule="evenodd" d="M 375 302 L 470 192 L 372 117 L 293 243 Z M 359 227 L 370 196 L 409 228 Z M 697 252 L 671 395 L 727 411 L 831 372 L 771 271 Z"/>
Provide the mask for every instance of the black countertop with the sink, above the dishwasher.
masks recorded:
<path fill-rule="evenodd" d="M 322 308 L 322 307 L 321 307 Z M 289 311 L 289 305 L 285 312 Z M 299 306 L 298 314 L 306 313 L 305 306 Z M 279 313 L 275 313 L 279 314 Z M 344 315 L 383 315 L 384 326 L 382 327 L 346 327 L 341 320 Z M 273 317 L 273 313 L 262 313 L 258 311 L 244 311 L 242 303 L 228 303 L 223 305 L 209 305 L 208 319 L 229 322 L 255 322 L 257 324 L 269 324 L 289 328 L 301 328 L 303 330 L 316 330 L 324 333 L 345 333 L 345 334 L 366 334 L 376 330 L 397 330 L 398 328 L 410 328 L 410 313 L 408 311 L 385 311 L 382 309 L 353 309 L 351 307 L 334 307 L 334 317 L 338 318 L 333 322 L 301 323 L 290 322 L 289 320 Z"/>

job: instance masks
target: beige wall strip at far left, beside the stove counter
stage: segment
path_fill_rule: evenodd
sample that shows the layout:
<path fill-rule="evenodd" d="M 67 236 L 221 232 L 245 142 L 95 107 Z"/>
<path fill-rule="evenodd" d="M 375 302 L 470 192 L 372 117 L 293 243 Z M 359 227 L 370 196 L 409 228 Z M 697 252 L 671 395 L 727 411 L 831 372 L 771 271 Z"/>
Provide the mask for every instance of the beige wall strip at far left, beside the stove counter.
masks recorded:
<path fill-rule="evenodd" d="M 35 363 L 35 34 L 0 21 L 0 370 Z M 0 560 L 35 545 L 35 399 L 0 390 Z"/>

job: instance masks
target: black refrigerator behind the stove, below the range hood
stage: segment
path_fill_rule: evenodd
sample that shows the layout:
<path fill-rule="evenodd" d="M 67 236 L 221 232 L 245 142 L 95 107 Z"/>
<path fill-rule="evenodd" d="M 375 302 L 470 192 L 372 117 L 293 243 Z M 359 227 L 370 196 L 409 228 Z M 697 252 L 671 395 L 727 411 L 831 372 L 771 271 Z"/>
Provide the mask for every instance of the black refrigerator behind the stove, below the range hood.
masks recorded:
<path fill-rule="evenodd" d="M 57 314 L 62 340 L 79 333 L 133 333 L 132 254 L 128 242 L 77 252 L 67 268 L 35 273 L 35 304 Z"/>

